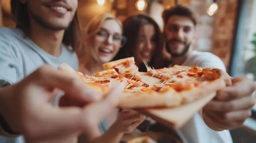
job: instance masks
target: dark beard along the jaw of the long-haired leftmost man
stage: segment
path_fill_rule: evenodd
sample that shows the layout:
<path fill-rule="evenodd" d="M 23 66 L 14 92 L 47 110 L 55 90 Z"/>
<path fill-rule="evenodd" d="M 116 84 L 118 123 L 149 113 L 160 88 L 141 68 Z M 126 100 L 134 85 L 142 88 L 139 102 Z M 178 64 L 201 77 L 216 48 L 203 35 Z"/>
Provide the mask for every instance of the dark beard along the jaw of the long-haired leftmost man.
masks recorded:
<path fill-rule="evenodd" d="M 53 31 L 66 30 L 69 28 L 70 24 L 72 23 L 72 21 L 70 21 L 70 23 L 67 26 L 54 26 L 53 24 L 47 23 L 44 19 L 42 19 L 36 14 L 31 13 L 31 16 L 33 20 L 35 20 L 36 23 L 38 23 L 40 26 L 44 27 L 45 29 L 50 29 Z"/>

